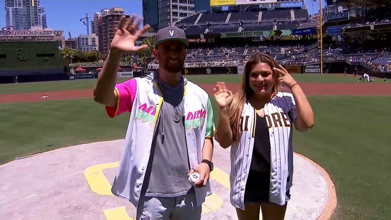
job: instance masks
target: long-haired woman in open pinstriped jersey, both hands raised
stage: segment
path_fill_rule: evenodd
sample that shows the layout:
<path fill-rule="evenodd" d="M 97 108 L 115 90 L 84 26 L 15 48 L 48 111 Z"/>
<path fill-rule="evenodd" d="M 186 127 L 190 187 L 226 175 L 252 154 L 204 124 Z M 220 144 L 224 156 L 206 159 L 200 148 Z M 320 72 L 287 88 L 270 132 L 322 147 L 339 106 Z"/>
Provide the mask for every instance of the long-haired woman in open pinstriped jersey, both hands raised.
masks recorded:
<path fill-rule="evenodd" d="M 292 186 L 292 124 L 307 131 L 314 114 L 300 85 L 268 55 L 251 56 L 233 95 L 218 82 L 216 140 L 231 147 L 231 204 L 239 220 L 283 220 Z M 281 74 L 281 77 L 280 77 Z M 279 85 L 292 93 L 279 92 Z"/>

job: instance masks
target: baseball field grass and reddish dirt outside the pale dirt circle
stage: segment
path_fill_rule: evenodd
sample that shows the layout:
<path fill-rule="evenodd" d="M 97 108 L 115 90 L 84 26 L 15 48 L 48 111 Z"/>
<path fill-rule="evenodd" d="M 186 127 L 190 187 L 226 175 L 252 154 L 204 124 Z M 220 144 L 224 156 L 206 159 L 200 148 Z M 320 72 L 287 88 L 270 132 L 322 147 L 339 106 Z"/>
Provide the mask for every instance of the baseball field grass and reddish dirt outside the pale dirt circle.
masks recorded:
<path fill-rule="evenodd" d="M 358 77 L 341 74 L 293 77 L 315 113 L 312 130 L 294 132 L 294 151 L 321 165 L 334 182 L 337 207 L 331 219 L 389 219 L 390 81 L 375 78 L 371 83 L 356 82 Z M 210 95 L 216 81 L 225 81 L 233 92 L 241 81 L 238 75 L 187 78 Z M 0 164 L 57 148 L 123 139 L 129 115 L 107 117 L 104 107 L 92 99 L 95 82 L 84 79 L 0 85 Z M 211 101 L 217 123 L 219 112 L 213 97 Z"/>

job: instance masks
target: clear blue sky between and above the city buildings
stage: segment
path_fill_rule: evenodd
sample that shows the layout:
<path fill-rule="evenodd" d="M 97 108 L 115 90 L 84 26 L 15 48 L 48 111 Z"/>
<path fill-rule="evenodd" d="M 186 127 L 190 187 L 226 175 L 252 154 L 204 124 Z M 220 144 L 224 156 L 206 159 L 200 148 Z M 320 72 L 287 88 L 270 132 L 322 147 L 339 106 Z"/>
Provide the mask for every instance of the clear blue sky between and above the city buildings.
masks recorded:
<path fill-rule="evenodd" d="M 312 14 L 313 0 L 305 0 L 308 12 Z M 123 7 L 126 14 L 142 16 L 142 0 L 40 0 L 44 7 L 48 27 L 53 30 L 64 31 L 68 38 L 68 31 L 72 37 L 87 34 L 86 26 L 80 18 L 93 15 L 104 8 Z M 325 5 L 325 4 L 324 4 Z M 316 3 L 314 2 L 314 11 Z M 0 0 L 0 27 L 5 26 L 4 1 Z"/>

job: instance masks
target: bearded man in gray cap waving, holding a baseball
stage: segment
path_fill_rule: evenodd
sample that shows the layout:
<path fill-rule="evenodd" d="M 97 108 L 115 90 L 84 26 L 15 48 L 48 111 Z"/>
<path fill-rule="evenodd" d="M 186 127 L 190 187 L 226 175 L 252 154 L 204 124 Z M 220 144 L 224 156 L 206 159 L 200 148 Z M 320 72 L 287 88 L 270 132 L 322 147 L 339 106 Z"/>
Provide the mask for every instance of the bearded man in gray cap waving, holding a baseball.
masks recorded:
<path fill-rule="evenodd" d="M 109 117 L 130 112 L 111 191 L 137 208 L 137 220 L 199 220 L 201 204 L 212 193 L 208 180 L 215 126 L 208 94 L 181 76 L 188 40 L 173 26 L 156 33 L 158 72 L 116 84 L 122 54 L 147 48 L 136 47 L 135 41 L 149 25 L 136 31 L 141 20 L 133 24 L 135 15 L 125 20 L 118 24 L 94 90 Z M 200 179 L 192 186 L 188 176 L 194 171 Z"/>

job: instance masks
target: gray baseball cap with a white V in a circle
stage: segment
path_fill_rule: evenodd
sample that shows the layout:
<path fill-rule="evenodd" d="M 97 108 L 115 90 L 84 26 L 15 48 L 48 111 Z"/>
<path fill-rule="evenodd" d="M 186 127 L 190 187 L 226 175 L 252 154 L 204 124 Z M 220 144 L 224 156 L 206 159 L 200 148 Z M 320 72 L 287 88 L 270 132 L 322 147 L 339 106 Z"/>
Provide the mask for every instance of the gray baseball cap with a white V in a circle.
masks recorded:
<path fill-rule="evenodd" d="M 176 40 L 184 43 L 186 47 L 189 45 L 189 41 L 186 38 L 185 31 L 175 26 L 163 27 L 156 33 L 155 47 L 164 43 L 165 41 Z"/>

